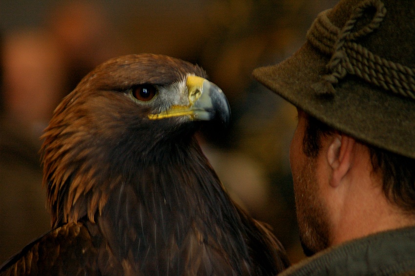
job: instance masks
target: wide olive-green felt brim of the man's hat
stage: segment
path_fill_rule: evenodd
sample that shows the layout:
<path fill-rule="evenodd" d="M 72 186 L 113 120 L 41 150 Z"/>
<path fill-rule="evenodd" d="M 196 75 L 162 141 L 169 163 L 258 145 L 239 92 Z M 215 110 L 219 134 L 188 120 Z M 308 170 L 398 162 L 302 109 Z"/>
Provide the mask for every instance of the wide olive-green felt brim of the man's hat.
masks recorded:
<path fill-rule="evenodd" d="M 333 96 L 311 85 L 327 71 L 330 57 L 306 42 L 290 58 L 260 67 L 253 76 L 294 106 L 358 140 L 415 158 L 415 102 L 347 75 Z"/>

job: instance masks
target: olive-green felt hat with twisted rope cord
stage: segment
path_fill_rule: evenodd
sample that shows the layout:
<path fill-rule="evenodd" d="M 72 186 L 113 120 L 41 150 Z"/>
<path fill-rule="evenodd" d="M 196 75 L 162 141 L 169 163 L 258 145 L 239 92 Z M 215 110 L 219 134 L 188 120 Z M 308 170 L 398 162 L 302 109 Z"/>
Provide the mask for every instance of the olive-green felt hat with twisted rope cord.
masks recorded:
<path fill-rule="evenodd" d="M 253 76 L 327 125 L 415 158 L 414 0 L 341 0 L 296 53 Z"/>

